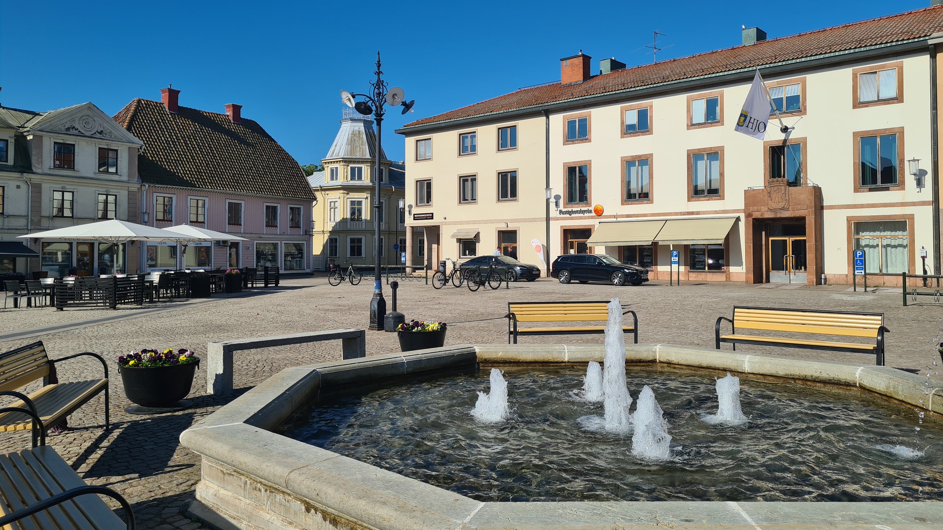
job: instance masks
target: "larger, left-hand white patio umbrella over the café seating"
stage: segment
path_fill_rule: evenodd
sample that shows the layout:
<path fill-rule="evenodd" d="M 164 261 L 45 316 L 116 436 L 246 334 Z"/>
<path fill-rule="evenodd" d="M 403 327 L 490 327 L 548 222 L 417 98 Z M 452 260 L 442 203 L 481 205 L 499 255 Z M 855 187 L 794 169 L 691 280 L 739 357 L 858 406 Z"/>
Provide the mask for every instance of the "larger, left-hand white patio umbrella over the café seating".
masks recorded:
<path fill-rule="evenodd" d="M 99 221 L 98 223 L 76 224 L 55 230 L 33 232 L 17 236 L 18 239 L 59 240 L 59 241 L 97 241 L 111 244 L 112 263 L 115 263 L 115 249 L 127 241 L 168 241 L 196 240 L 187 234 L 179 234 L 145 224 L 128 223 L 118 219 Z"/>

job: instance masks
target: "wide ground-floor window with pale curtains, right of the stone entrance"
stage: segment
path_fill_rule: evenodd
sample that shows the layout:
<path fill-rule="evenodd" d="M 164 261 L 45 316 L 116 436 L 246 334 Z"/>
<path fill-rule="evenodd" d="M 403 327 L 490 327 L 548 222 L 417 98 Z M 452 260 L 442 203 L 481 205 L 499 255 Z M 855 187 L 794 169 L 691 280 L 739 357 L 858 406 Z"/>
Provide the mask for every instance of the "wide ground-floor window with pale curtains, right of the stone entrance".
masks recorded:
<path fill-rule="evenodd" d="M 910 270 L 906 221 L 854 224 L 854 249 L 865 251 L 868 273 L 898 274 Z"/>

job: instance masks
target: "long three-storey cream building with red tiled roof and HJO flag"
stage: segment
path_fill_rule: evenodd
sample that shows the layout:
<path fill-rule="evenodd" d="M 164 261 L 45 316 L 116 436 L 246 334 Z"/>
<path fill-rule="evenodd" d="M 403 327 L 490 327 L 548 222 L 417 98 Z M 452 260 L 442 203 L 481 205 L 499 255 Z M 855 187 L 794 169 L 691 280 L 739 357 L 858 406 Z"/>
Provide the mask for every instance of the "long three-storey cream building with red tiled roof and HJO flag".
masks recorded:
<path fill-rule="evenodd" d="M 653 279 L 815 285 L 851 283 L 864 250 L 869 283 L 892 285 L 922 272 L 922 248 L 939 273 L 941 31 L 935 6 L 779 39 L 745 29 L 733 48 L 596 74 L 563 58 L 560 82 L 397 131 L 407 240 L 424 238 L 430 266 L 500 247 L 544 270 L 590 252 Z M 765 141 L 734 130 L 757 70 L 788 131 L 772 116 Z"/>

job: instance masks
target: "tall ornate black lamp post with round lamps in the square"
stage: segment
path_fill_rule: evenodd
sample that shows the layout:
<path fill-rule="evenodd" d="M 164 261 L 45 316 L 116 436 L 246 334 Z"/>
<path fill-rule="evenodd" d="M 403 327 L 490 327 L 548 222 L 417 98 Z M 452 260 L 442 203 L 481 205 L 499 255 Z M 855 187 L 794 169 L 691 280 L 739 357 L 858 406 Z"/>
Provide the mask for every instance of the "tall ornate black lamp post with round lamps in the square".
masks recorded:
<path fill-rule="evenodd" d="M 380 52 L 376 52 L 376 81 L 370 86 L 372 93 L 358 94 L 349 91 L 340 91 L 340 99 L 348 107 L 353 107 L 357 112 L 365 116 L 373 115 L 376 122 L 376 145 L 374 156 L 376 157 L 376 166 L 373 168 L 373 181 L 376 184 L 376 192 L 373 195 L 373 256 L 375 257 L 375 266 L 373 267 L 373 298 L 370 301 L 370 329 L 383 331 L 383 318 L 387 314 L 387 301 L 383 299 L 383 281 L 380 279 L 380 154 L 383 152 L 381 138 L 381 125 L 383 124 L 383 107 L 386 104 L 397 106 L 403 105 L 403 113 L 411 112 L 414 101 L 403 101 L 403 89 L 393 87 L 388 89 L 387 82 L 380 78 L 383 71 L 380 70 Z M 356 101 L 356 97 L 363 97 L 367 101 Z"/>

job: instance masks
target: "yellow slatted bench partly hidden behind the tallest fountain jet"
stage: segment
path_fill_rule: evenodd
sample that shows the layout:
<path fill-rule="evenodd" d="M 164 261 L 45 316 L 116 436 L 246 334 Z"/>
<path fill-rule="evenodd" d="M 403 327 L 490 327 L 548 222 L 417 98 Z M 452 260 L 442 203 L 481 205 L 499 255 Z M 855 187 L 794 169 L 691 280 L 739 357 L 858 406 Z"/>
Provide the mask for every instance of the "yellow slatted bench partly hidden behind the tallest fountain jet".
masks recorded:
<path fill-rule="evenodd" d="M 607 322 L 608 302 L 508 302 L 507 343 L 518 343 L 519 335 L 571 335 L 603 333 L 603 325 L 521 327 L 519 323 Z M 628 309 L 623 315 L 632 315 L 632 325 L 622 325 L 622 333 L 632 333 L 638 343 L 638 317 Z M 623 322 L 624 324 L 624 322 Z"/>

